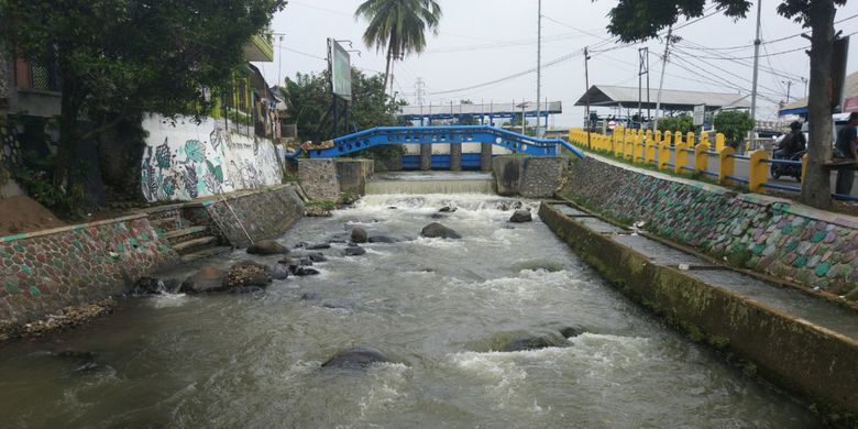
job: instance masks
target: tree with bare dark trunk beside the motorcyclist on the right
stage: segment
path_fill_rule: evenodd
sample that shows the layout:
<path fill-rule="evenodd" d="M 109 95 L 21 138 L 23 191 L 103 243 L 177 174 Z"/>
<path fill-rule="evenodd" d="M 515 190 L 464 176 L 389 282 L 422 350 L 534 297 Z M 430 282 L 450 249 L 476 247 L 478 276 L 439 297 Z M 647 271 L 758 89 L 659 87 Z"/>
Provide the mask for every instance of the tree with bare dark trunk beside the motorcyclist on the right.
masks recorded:
<path fill-rule="evenodd" d="M 622 42 L 658 37 L 659 32 L 686 19 L 703 15 L 706 0 L 619 0 L 610 10 L 608 32 Z M 714 0 L 725 15 L 745 18 L 748 0 Z M 824 164 L 832 156 L 832 95 L 828 92 L 834 52 L 834 15 L 846 0 L 781 0 L 778 13 L 811 29 L 811 80 L 809 88 L 810 139 L 807 173 L 802 182 L 803 202 L 829 208 L 832 205 L 829 172 Z"/>

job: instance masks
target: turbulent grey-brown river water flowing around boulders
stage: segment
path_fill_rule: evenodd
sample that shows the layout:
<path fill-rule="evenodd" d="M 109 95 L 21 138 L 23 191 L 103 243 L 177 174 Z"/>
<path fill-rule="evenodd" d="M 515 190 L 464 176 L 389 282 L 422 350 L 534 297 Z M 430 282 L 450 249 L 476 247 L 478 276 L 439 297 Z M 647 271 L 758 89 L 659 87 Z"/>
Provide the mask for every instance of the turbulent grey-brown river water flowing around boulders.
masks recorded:
<path fill-rule="evenodd" d="M 277 280 L 263 294 L 130 299 L 84 329 L 4 345 L 0 425 L 817 425 L 800 404 L 614 292 L 538 219 L 508 226 L 509 212 L 495 208 L 501 200 L 369 196 L 332 218 L 300 221 L 280 241 L 322 242 L 358 226 L 414 240 L 367 244 L 367 254 L 348 258 L 334 244 L 316 265 L 320 275 Z M 459 209 L 442 222 L 463 240 L 416 238 L 450 201 Z M 237 251 L 215 263 L 244 257 Z M 565 346 L 493 351 L 562 327 L 584 333 Z M 358 345 L 397 363 L 321 367 Z"/>

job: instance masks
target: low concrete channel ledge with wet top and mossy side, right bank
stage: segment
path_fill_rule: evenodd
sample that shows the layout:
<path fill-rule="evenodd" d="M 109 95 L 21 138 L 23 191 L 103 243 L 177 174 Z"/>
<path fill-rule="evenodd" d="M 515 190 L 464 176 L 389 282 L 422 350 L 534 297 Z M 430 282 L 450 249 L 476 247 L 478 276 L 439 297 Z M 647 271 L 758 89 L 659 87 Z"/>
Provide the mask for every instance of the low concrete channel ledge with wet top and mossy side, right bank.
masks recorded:
<path fill-rule="evenodd" d="M 858 414 L 858 314 L 617 227 L 569 201 L 540 218 L 625 295 L 828 416 Z M 851 416 L 851 417 L 849 417 Z M 844 422 L 844 420 L 840 420 Z"/>

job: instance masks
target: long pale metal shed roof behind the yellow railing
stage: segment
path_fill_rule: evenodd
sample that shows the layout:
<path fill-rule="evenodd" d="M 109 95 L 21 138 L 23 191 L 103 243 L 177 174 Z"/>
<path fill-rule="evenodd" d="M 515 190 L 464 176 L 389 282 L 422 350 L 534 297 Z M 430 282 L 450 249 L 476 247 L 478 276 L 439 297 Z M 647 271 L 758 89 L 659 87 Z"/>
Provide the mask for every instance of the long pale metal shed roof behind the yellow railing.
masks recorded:
<path fill-rule="evenodd" d="M 641 105 L 644 108 L 654 108 L 658 100 L 658 88 L 650 88 L 649 100 L 647 103 L 647 89 L 644 88 L 641 95 Z M 590 94 L 590 106 L 610 106 L 610 107 L 637 107 L 638 88 L 637 87 L 617 87 L 607 85 L 594 85 L 581 96 L 575 106 L 585 106 L 586 97 Z M 750 108 L 750 96 L 736 92 L 703 92 L 684 91 L 676 89 L 661 90 L 661 106 L 668 110 L 692 110 L 694 106 L 706 105 L 708 110 L 718 108 Z"/>

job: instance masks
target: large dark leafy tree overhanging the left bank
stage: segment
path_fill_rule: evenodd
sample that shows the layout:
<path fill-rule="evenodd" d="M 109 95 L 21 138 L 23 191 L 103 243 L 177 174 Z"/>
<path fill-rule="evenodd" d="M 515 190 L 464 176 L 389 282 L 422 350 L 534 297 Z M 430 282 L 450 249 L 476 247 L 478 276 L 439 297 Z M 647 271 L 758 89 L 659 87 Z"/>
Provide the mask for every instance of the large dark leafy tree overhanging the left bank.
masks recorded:
<path fill-rule="evenodd" d="M 4 0 L 0 37 L 33 63 L 53 63 L 62 90 L 54 185 L 80 193 L 77 154 L 141 112 L 204 116 L 204 87 L 229 87 L 243 47 L 284 0 Z M 86 121 L 87 131 L 79 122 Z"/>

